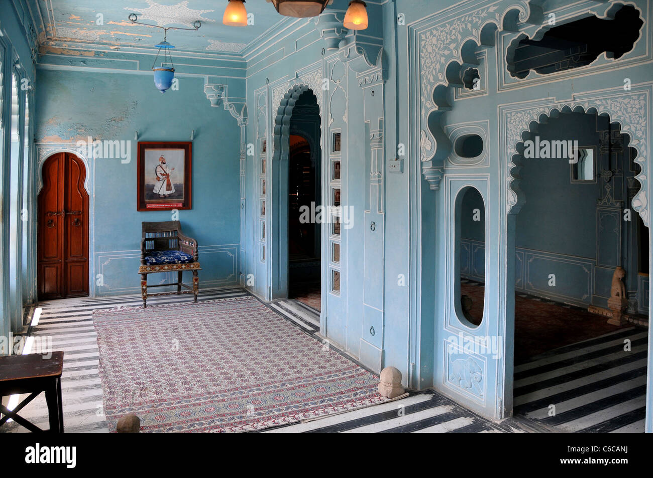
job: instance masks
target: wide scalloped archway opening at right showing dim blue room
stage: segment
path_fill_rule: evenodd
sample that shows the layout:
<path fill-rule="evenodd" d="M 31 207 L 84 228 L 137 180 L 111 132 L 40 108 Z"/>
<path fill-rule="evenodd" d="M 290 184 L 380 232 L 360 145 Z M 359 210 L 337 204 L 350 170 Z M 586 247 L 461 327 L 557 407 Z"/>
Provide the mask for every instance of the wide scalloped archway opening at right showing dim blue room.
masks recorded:
<path fill-rule="evenodd" d="M 643 432 L 648 330 L 638 323 L 648 308 L 637 297 L 648 243 L 633 208 L 637 150 L 607 115 L 571 108 L 522 139 L 526 201 L 508 241 L 513 413 L 565 432 Z"/>

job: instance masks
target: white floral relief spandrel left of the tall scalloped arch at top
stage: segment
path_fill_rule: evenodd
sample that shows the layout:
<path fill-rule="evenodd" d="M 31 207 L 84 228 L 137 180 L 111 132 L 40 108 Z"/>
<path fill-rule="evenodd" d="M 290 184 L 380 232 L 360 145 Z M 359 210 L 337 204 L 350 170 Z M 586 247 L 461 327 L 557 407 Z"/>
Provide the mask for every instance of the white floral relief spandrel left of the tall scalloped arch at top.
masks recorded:
<path fill-rule="evenodd" d="M 463 10 L 457 16 L 452 16 L 449 8 L 409 28 L 409 42 L 413 42 L 413 46 L 417 46 L 415 50 L 419 52 L 417 59 L 413 59 L 413 67 L 419 68 L 418 77 L 421 79 L 419 82 L 420 159 L 424 177 L 434 190 L 439 188 L 441 169 L 447 151 L 444 151 L 446 148 L 440 148 L 438 151 L 436 137 L 440 136 L 440 132 L 430 130 L 428 119 L 432 113 L 442 111 L 434 100 L 434 93 L 438 86 L 449 85 L 445 76 L 447 67 L 452 61 L 460 65 L 465 63 L 462 58 L 462 48 L 469 40 L 473 40 L 478 46 L 486 44 L 488 25 L 517 33 L 517 23 L 526 22 L 531 17 L 528 0 L 498 0 L 483 3 L 485 5 L 479 7 L 478 1 L 468 0 L 456 8 L 456 12 Z M 537 20 L 539 22 L 539 18 Z"/>

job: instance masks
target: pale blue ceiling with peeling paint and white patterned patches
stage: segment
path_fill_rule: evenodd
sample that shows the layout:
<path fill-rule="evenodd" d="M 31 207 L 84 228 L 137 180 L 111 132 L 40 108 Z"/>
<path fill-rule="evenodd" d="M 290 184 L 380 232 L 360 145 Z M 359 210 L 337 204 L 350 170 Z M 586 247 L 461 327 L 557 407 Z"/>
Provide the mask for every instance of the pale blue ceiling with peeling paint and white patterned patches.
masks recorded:
<path fill-rule="evenodd" d="M 266 0 L 246 2 L 254 25 L 229 27 L 222 16 L 227 0 L 37 0 L 40 15 L 51 40 L 81 41 L 110 46 L 154 46 L 163 40 L 158 28 L 131 23 L 127 16 L 138 15 L 138 22 L 160 26 L 191 27 L 198 31 L 170 30 L 168 41 L 177 50 L 206 53 L 240 53 L 265 31 L 283 20 Z M 80 5 L 81 4 L 81 5 Z M 103 24 L 98 25 L 98 15 Z"/>

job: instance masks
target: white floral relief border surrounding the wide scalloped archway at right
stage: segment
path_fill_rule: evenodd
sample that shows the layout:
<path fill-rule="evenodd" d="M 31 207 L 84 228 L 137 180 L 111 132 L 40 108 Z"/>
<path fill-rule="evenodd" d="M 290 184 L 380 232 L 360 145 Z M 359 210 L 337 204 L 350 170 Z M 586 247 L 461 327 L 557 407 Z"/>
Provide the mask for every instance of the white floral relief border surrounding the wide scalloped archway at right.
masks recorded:
<path fill-rule="evenodd" d="M 500 107 L 502 127 L 505 130 L 501 145 L 505 151 L 506 210 L 508 214 L 517 214 L 524 204 L 523 192 L 519 188 L 520 164 L 513 161 L 519 155 L 518 143 L 524 141 L 522 134 L 530 132 L 531 123 L 541 123 L 543 116 L 551 117 L 559 112 L 584 112 L 608 115 L 611 123 L 618 123 L 622 134 L 628 134 L 629 147 L 637 150 L 635 162 L 642 168 L 635 176 L 641 188 L 631 203 L 639 213 L 644 224 L 650 227 L 650 210 L 648 209 L 648 158 L 650 158 L 651 104 L 653 100 L 653 82 L 633 85 L 631 91 L 622 87 L 606 89 L 601 92 L 577 93 L 571 100 L 556 101 L 544 98 L 535 102 L 522 102 Z M 531 105 L 530 107 L 528 105 Z"/>

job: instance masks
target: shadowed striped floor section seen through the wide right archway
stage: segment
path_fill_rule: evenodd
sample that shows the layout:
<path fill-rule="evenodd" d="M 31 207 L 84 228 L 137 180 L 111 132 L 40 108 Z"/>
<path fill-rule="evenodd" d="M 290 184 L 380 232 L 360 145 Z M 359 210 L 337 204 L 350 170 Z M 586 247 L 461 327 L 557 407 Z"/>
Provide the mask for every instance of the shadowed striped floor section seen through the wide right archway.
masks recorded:
<path fill-rule="evenodd" d="M 515 415 L 561 432 L 644 432 L 647 337 L 629 327 L 515 366 Z"/>

